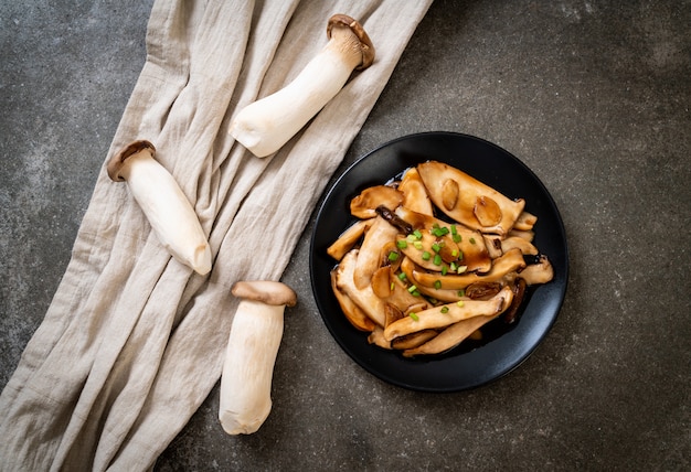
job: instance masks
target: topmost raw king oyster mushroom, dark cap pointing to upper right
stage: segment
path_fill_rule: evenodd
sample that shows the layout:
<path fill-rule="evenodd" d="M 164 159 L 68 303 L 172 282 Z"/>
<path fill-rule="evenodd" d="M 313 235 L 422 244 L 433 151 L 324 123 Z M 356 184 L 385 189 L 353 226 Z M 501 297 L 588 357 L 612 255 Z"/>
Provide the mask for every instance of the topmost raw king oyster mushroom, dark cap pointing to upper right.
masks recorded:
<path fill-rule="evenodd" d="M 374 60 L 374 46 L 360 23 L 334 14 L 327 26 L 329 42 L 280 90 L 243 108 L 230 133 L 258 158 L 273 154 L 295 136 L 346 85 L 354 69 Z"/>

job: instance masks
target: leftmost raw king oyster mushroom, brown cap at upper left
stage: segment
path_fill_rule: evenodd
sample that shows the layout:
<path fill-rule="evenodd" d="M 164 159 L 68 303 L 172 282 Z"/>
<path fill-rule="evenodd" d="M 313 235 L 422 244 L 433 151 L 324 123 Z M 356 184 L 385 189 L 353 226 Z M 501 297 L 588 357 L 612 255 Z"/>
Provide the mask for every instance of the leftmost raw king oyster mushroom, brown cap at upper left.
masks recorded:
<path fill-rule="evenodd" d="M 115 182 L 127 181 L 151 228 L 166 249 L 195 272 L 211 270 L 211 248 L 199 218 L 176 179 L 156 159 L 149 141 L 135 141 L 107 165 Z"/>

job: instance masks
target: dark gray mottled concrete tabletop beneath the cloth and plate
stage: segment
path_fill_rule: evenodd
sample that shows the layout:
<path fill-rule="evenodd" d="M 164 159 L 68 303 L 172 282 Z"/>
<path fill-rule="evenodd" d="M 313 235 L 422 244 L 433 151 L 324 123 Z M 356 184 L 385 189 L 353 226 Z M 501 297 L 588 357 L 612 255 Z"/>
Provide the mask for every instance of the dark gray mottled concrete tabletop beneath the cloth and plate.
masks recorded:
<path fill-rule="evenodd" d="M 0 387 L 67 265 L 143 64 L 151 1 L 0 3 Z M 306 229 L 274 410 L 225 436 L 217 388 L 160 471 L 689 470 L 691 3 L 437 1 L 341 170 L 449 130 L 525 162 L 556 201 L 568 292 L 542 345 L 476 390 L 390 386 L 339 348 Z"/>

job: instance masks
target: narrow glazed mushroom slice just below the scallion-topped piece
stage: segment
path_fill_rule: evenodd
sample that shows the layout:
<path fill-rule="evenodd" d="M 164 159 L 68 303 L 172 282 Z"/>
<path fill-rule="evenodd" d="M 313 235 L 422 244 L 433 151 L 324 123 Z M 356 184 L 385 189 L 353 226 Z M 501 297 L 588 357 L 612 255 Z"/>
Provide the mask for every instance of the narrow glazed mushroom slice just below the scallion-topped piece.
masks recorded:
<path fill-rule="evenodd" d="M 470 283 L 486 281 L 493 282 L 503 279 L 509 273 L 525 267 L 525 260 L 519 249 L 511 249 L 504 253 L 498 259 L 495 259 L 492 268 L 489 272 L 478 275 L 475 272 L 464 273 L 459 276 L 443 276 L 440 273 L 429 273 L 425 271 L 413 270 L 414 279 L 425 286 L 435 287 L 447 290 L 460 290 L 468 287 Z"/>

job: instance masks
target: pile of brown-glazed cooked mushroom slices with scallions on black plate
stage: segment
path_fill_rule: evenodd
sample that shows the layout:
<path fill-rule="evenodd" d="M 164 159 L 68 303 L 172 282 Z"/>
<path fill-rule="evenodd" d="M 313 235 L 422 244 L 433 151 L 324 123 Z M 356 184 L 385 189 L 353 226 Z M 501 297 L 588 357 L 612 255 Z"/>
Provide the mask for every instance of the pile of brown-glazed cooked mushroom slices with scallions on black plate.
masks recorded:
<path fill-rule="evenodd" d="M 427 161 L 350 202 L 358 222 L 328 248 L 331 287 L 369 342 L 406 357 L 440 354 L 553 278 L 533 245 L 538 218 L 465 172 Z"/>

